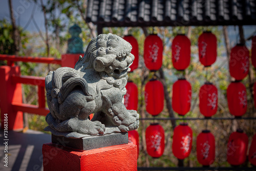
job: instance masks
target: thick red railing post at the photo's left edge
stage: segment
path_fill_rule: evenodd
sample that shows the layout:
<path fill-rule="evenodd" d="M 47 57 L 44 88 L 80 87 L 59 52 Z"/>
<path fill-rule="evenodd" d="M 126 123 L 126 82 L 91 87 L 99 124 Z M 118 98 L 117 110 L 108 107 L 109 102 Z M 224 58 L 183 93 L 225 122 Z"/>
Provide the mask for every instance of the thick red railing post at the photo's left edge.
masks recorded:
<path fill-rule="evenodd" d="M 4 128 L 4 114 L 8 114 L 8 130 L 23 129 L 23 112 L 17 112 L 12 103 L 22 103 L 22 85 L 12 81 L 12 76 L 19 76 L 18 66 L 0 67 L 0 108 L 1 126 Z"/>

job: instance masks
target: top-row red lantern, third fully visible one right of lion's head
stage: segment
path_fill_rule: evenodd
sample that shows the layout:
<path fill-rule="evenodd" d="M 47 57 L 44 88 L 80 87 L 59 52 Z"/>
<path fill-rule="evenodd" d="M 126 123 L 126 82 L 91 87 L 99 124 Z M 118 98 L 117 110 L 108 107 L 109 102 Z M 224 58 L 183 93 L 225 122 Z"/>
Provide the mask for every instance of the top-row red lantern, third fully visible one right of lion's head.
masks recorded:
<path fill-rule="evenodd" d="M 217 58 L 217 38 L 211 32 L 203 32 L 198 38 L 199 60 L 209 67 Z"/>

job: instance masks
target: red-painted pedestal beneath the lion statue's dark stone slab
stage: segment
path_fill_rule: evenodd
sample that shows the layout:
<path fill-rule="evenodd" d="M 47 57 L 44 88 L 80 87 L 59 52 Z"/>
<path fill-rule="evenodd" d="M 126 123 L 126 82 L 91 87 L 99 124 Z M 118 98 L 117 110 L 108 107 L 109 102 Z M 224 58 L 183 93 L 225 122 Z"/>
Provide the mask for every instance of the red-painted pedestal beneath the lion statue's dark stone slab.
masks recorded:
<path fill-rule="evenodd" d="M 137 146 L 115 145 L 89 151 L 46 143 L 42 146 L 44 170 L 137 170 Z"/>

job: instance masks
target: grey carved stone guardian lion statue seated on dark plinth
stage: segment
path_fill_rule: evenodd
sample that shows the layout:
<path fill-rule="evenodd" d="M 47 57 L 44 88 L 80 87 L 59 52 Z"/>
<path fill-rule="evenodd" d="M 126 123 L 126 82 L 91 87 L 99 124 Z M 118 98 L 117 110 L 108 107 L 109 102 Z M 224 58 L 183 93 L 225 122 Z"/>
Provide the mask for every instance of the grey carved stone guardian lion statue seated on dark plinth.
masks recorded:
<path fill-rule="evenodd" d="M 131 50 L 131 44 L 121 37 L 100 34 L 90 41 L 74 69 L 49 72 L 46 131 L 80 138 L 136 130 L 139 114 L 123 104 L 127 73 L 134 60 Z"/>

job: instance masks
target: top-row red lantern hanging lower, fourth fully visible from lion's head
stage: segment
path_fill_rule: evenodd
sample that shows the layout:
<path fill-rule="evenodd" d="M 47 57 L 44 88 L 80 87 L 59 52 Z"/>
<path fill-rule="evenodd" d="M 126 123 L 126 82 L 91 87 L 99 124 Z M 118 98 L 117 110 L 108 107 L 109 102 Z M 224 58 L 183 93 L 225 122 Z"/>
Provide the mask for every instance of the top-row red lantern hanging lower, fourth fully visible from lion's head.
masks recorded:
<path fill-rule="evenodd" d="M 229 72 L 236 80 L 242 80 L 249 72 L 249 51 L 244 45 L 236 45 L 231 49 Z"/>

